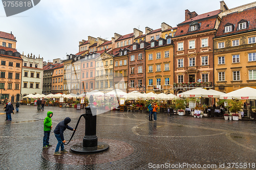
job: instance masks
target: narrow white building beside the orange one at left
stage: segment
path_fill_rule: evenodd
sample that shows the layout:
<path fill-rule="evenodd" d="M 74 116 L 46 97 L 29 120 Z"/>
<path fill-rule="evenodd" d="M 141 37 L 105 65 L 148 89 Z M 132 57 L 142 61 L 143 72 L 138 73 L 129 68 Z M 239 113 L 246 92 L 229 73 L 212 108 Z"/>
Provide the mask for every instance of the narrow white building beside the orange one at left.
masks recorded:
<path fill-rule="evenodd" d="M 42 93 L 42 76 L 44 74 L 43 58 L 37 58 L 32 54 L 28 57 L 22 55 L 22 96 L 31 93 Z"/>

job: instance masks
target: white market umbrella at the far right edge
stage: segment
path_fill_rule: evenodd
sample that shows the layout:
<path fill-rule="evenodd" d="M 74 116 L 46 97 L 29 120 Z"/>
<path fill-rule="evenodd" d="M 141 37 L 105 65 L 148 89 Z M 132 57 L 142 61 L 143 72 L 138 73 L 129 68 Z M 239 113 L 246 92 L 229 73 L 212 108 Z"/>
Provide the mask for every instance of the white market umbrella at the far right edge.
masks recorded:
<path fill-rule="evenodd" d="M 239 100 L 247 100 L 247 99 L 255 100 L 256 89 L 251 87 L 244 87 L 220 96 L 220 99 L 232 99 L 232 98 L 236 98 Z"/>

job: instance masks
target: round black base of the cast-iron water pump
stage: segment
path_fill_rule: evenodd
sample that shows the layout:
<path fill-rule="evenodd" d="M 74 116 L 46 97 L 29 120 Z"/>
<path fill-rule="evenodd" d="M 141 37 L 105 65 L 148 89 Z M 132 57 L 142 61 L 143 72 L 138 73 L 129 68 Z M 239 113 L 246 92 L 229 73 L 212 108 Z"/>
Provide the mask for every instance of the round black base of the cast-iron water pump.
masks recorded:
<path fill-rule="evenodd" d="M 96 154 L 109 150 L 109 144 L 104 142 L 98 142 L 97 147 L 85 148 L 82 146 L 83 143 L 74 144 L 70 147 L 70 152 L 75 154 Z"/>

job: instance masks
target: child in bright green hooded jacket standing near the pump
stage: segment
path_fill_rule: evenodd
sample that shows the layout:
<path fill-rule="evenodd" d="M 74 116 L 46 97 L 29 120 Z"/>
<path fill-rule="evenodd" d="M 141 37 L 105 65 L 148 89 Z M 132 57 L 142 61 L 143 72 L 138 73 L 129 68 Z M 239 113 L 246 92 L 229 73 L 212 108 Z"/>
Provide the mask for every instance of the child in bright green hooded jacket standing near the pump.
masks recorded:
<path fill-rule="evenodd" d="M 42 148 L 49 148 L 52 145 L 49 144 L 50 132 L 52 129 L 52 115 L 51 111 L 47 112 L 47 117 L 44 120 L 44 138 L 42 140 Z"/>

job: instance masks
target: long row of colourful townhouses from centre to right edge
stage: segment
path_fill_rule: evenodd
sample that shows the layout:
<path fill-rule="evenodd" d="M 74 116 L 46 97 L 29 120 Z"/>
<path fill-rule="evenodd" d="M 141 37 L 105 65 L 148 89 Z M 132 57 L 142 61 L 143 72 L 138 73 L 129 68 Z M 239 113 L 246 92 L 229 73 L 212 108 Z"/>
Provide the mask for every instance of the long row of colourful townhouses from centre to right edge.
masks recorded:
<path fill-rule="evenodd" d="M 163 22 L 145 34 L 115 33 L 110 41 L 89 36 L 63 61 L 63 93 L 256 88 L 255 6 L 228 9 L 222 1 L 219 10 L 201 15 L 185 10 L 175 28 Z"/>

